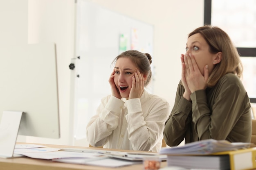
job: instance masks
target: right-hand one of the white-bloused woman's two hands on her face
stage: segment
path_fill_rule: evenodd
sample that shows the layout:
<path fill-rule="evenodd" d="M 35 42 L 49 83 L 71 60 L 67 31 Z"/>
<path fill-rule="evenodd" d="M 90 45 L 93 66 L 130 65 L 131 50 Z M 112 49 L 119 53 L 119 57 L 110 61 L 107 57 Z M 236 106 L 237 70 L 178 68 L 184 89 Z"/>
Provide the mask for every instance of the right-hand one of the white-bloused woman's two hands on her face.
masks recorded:
<path fill-rule="evenodd" d="M 137 70 L 132 76 L 132 88 L 130 90 L 129 99 L 140 98 L 144 92 L 144 77 L 143 74 Z"/>

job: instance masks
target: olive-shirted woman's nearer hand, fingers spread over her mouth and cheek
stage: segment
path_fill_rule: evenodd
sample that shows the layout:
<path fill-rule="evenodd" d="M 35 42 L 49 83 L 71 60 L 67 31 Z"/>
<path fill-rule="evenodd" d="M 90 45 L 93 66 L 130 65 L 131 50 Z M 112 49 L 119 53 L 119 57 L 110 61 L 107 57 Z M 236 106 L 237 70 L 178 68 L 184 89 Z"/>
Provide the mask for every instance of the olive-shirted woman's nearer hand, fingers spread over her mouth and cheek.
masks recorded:
<path fill-rule="evenodd" d="M 191 93 L 195 92 L 196 90 L 205 89 L 206 82 L 208 80 L 208 72 L 205 71 L 207 67 L 204 67 L 204 72 L 206 75 L 203 76 L 192 54 L 185 54 L 184 62 L 186 65 L 186 82 Z"/>

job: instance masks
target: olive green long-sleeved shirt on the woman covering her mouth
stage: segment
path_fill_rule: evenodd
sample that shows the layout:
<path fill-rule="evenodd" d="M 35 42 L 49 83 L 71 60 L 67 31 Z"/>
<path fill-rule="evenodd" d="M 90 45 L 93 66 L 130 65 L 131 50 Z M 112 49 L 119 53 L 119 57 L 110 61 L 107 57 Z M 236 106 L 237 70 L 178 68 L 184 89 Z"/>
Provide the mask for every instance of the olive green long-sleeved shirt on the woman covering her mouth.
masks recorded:
<path fill-rule="evenodd" d="M 177 146 L 203 139 L 226 139 L 229 142 L 250 142 L 252 135 L 251 105 L 240 79 L 231 73 L 205 90 L 183 97 L 180 81 L 175 104 L 164 128 L 168 146 Z"/>

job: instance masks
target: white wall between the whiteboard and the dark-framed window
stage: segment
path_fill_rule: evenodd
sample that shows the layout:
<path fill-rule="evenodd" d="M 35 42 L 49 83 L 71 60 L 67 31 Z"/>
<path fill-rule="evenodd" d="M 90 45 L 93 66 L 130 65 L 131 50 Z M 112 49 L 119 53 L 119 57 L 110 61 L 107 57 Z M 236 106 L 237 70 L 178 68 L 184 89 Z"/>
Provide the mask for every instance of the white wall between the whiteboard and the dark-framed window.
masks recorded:
<path fill-rule="evenodd" d="M 185 52 L 187 35 L 204 24 L 204 0 L 90 1 L 154 25 L 154 93 L 172 107 L 181 76 L 180 54 Z"/>

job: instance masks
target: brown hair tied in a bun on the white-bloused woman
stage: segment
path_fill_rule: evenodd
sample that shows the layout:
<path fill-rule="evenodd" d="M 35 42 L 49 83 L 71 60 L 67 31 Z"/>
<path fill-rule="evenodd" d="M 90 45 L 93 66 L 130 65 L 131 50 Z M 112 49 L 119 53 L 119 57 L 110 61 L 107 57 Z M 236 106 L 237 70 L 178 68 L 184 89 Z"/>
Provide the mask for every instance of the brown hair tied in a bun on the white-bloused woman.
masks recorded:
<path fill-rule="evenodd" d="M 128 50 L 125 52 L 122 52 L 119 54 L 112 62 L 115 63 L 119 58 L 121 57 L 127 57 L 129 58 L 132 63 L 136 65 L 137 68 L 139 68 L 139 71 L 143 74 L 146 74 L 148 76 L 147 80 L 144 83 L 144 86 L 146 87 L 151 79 L 151 68 L 150 64 L 152 63 L 152 57 L 148 53 L 142 53 L 137 50 Z"/>

